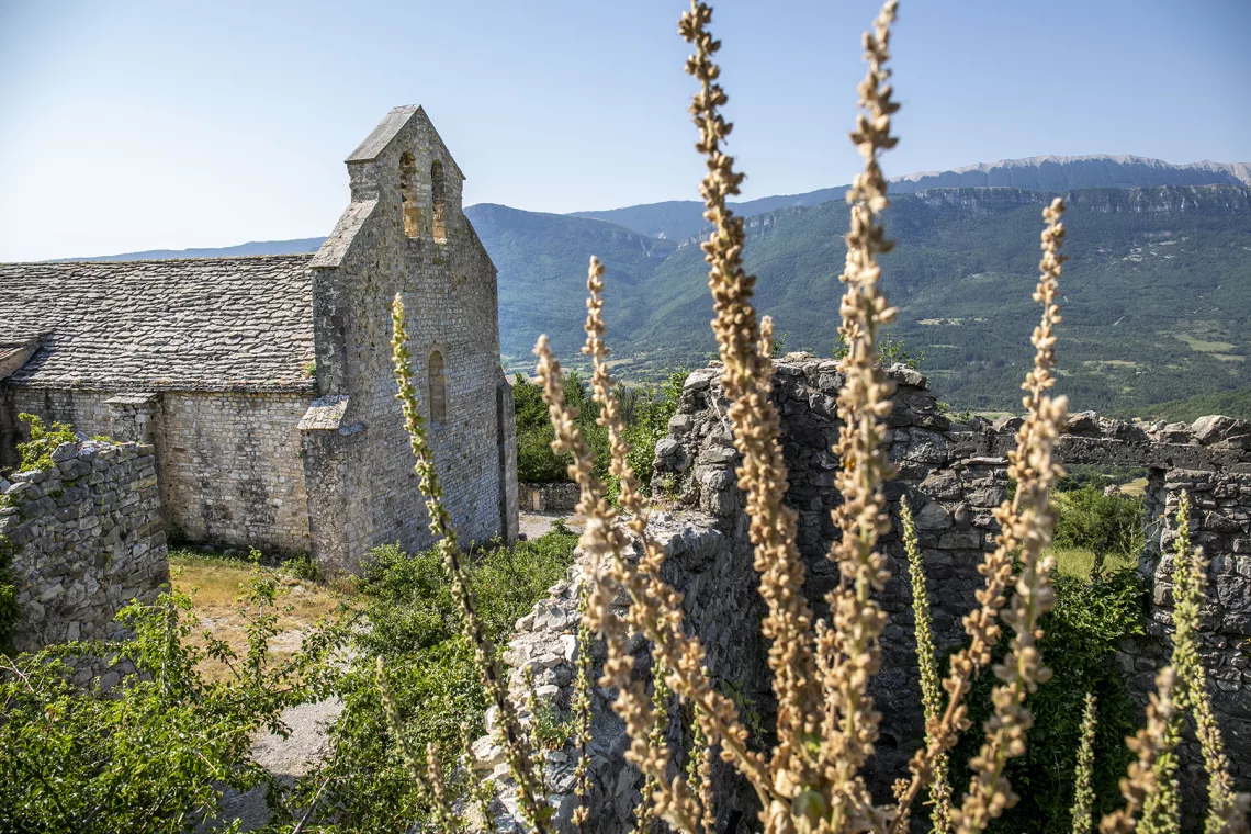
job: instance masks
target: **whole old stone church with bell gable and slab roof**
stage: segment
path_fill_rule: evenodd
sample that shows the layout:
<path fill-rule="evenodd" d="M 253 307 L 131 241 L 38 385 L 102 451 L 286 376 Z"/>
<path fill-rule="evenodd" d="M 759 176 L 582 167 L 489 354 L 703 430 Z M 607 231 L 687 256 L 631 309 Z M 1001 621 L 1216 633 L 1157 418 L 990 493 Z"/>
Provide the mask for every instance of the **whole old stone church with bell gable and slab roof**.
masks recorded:
<path fill-rule="evenodd" d="M 0 470 L 26 411 L 151 443 L 165 523 L 189 541 L 332 570 L 428 546 L 390 366 L 402 293 L 457 531 L 514 540 L 495 268 L 464 175 L 417 106 L 347 165 L 352 203 L 315 255 L 0 265 Z"/>

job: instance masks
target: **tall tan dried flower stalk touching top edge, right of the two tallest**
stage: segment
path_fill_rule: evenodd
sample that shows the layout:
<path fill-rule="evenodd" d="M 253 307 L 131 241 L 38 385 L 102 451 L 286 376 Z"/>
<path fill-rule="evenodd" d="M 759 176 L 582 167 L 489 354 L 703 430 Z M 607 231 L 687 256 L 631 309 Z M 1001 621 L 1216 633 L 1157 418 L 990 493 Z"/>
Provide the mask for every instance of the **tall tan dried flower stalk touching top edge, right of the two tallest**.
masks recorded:
<path fill-rule="evenodd" d="M 886 613 L 873 593 L 882 590 L 889 571 L 876 545 L 878 536 L 891 528 L 882 485 L 894 474 L 882 443 L 894 385 L 886 378 L 876 346 L 881 328 L 897 314 L 882 293 L 877 264 L 877 256 L 893 245 L 879 223 L 889 201 L 877 156 L 898 143 L 891 135 L 891 116 L 899 105 L 892 98 L 891 71 L 886 69 L 894 16 L 896 3 L 889 0 L 873 21 L 873 31 L 863 39 L 868 64 L 859 84 L 863 113 L 857 114 L 851 140 L 864 160 L 864 169 L 847 191 L 851 229 L 847 261 L 839 276 L 847 285 L 838 329 L 847 350 L 839 369 L 847 381 L 838 394 L 843 426 L 834 450 L 842 459 L 836 486 L 843 500 L 832 514 L 839 536 L 828 558 L 838 564 L 842 583 L 826 596 L 832 628 L 823 629 L 818 640 L 826 705 L 821 765 L 831 783 L 831 823 L 836 830 L 844 825 L 876 828 L 882 821 L 858 771 L 873 753 L 881 721 L 868 694 L 868 681 L 881 663 L 878 639 L 886 626 Z"/>

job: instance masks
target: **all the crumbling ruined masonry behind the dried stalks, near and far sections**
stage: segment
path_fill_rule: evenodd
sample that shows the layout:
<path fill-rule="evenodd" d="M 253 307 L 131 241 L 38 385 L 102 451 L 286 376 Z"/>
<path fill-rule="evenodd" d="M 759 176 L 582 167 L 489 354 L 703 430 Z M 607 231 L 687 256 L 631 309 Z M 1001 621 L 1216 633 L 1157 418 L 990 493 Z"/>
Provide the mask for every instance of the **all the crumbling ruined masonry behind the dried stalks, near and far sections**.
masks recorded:
<path fill-rule="evenodd" d="M 965 639 L 961 618 L 975 605 L 973 594 L 983 584 L 976 568 L 993 546 L 997 525 L 991 510 L 1007 495 L 1006 454 L 1020 425 L 1018 418 L 952 424 L 940 413 L 919 373 L 896 366 L 889 375 L 896 393 L 887 443 L 898 474 L 887 485 L 893 525 L 881 543 L 892 573 L 879 595 L 889 623 L 882 640 L 882 669 L 873 681 L 883 723 L 867 774 L 882 789 L 881 800 L 888 799 L 884 789 L 903 770 L 923 734 L 899 503 L 907 500 L 917 520 L 934 634 L 942 650 Z M 782 413 L 787 501 L 798 513 L 798 545 L 807 568 L 804 594 L 818 614 L 826 613 L 824 593 L 838 581 L 824 554 L 836 535 L 829 510 L 839 500 L 833 488 L 839 461 L 831 449 L 839 428 L 837 396 L 842 384 L 834 360 L 791 354 L 776 361 L 773 398 Z M 733 474 L 738 456 L 727 406 L 719 368 L 691 374 L 669 423 L 669 438 L 656 448 L 653 489 L 657 498 L 676 498 L 677 504 L 676 511 L 661 514 L 656 534 L 671 553 L 666 579 L 686 596 L 684 626 L 708 648 L 713 676 L 752 711 L 768 715 L 773 705 L 764 644 L 758 635 L 762 608 L 743 495 Z M 1251 424 L 1211 416 L 1193 425 L 1145 426 L 1077 414 L 1070 419 L 1060 456 L 1071 464 L 1133 465 L 1150 473 L 1147 544 L 1140 560 L 1140 571 L 1153 589 L 1147 611 L 1150 634 L 1120 648 L 1131 693 L 1140 701 L 1168 651 L 1168 549 L 1176 535 L 1171 523 L 1181 490 L 1190 493 L 1192 536 L 1211 559 L 1203 660 L 1235 779 L 1246 790 L 1251 784 Z M 553 596 L 518 623 L 505 654 L 514 668 L 514 690 L 519 689 L 515 669 L 529 664 L 545 684 L 540 698 L 562 708 L 569 698 L 574 661 L 570 635 L 577 595 L 572 589 L 583 581 L 585 565 L 575 565 L 569 583 L 553 588 Z M 638 640 L 631 649 L 646 669 L 646 644 Z M 592 744 L 597 794 L 590 806 L 598 814 L 595 830 L 618 831 L 632 824 L 628 809 L 637 800 L 642 779 L 622 764 L 626 739 L 608 709 L 609 698 L 609 693 L 597 690 Z M 681 748 L 683 739 L 678 735 L 674 743 Z M 480 739 L 474 751 L 484 768 L 500 775 L 499 751 L 489 736 Z M 572 750 L 549 754 L 548 770 L 557 788 L 553 803 L 564 811 L 572 803 L 565 789 L 572 760 Z M 726 773 L 718 778 L 727 786 L 733 784 Z M 512 803 L 507 780 L 504 784 L 502 813 Z M 722 824 L 754 813 L 751 796 L 733 789 L 728 796 L 718 811 Z"/>

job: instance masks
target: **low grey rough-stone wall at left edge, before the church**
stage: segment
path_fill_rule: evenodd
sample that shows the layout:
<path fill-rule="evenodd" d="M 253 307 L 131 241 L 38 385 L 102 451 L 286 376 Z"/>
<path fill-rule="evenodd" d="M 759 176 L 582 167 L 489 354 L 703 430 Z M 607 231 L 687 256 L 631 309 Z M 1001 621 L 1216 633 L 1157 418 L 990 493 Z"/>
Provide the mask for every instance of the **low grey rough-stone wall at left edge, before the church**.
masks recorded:
<path fill-rule="evenodd" d="M 119 609 L 169 581 L 153 446 L 66 443 L 53 460 L 53 469 L 0 479 L 20 651 L 110 636 Z"/>

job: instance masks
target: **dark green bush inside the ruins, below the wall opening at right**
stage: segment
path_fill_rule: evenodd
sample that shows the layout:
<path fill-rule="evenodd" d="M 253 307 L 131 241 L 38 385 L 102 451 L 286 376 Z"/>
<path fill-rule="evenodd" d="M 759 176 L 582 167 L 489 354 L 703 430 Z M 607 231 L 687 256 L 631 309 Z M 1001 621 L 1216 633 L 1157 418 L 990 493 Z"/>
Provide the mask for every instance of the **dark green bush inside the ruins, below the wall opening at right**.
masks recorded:
<path fill-rule="evenodd" d="M 1142 634 L 1145 585 L 1133 570 L 1121 570 L 1093 581 L 1052 575 L 1056 606 L 1042 618 L 1038 648 L 1052 678 L 1027 700 L 1033 713 L 1026 753 L 1012 759 L 1007 778 L 1020 804 L 987 829 L 991 834 L 1068 834 L 1073 803 L 1073 768 L 1081 738 L 1086 693 L 1098 699 L 1092 785 L 1096 818 L 1120 806 L 1118 780 L 1132 758 L 1126 736 L 1137 729 L 1135 706 L 1116 663 L 1116 645 Z M 998 646 L 1003 655 L 1007 639 Z M 946 668 L 946 661 L 941 668 Z M 991 714 L 993 671 L 987 669 L 970 698 L 973 728 L 961 736 L 953 761 L 953 786 L 963 790 L 968 759 L 982 744 L 982 723 Z"/>

